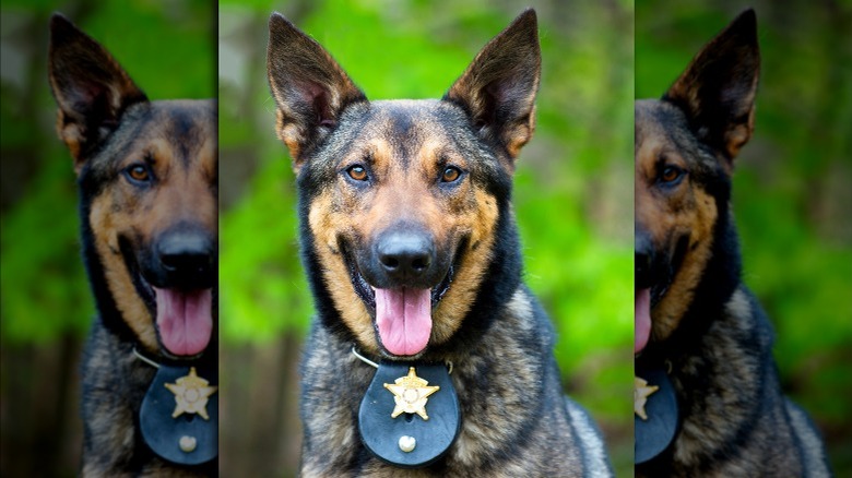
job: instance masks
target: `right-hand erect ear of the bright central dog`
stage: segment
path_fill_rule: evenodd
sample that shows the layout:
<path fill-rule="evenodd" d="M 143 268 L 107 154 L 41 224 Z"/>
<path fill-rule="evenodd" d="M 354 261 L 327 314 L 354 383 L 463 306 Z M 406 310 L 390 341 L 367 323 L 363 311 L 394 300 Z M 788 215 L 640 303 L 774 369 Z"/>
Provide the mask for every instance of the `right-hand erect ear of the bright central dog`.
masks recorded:
<path fill-rule="evenodd" d="M 537 29 L 534 10 L 518 15 L 485 45 L 443 97 L 462 106 L 478 133 L 512 159 L 535 129 L 542 68 Z"/>

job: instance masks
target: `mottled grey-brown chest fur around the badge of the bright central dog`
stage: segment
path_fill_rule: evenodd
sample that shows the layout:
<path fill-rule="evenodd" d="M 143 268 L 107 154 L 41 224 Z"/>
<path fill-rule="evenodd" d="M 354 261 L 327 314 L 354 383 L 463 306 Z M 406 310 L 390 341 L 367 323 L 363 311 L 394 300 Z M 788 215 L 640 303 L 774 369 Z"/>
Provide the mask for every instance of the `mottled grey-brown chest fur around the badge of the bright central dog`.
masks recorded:
<path fill-rule="evenodd" d="M 521 307 L 518 307 L 518 306 Z M 517 314 L 525 309 L 528 314 Z M 549 324 L 523 291 L 475 344 L 447 357 L 462 407 L 462 430 L 448 455 L 405 476 L 571 476 L 581 457 L 549 358 Z M 489 344 L 499 344 L 492 347 Z M 375 369 L 315 326 L 303 362 L 303 474 L 395 476 L 402 470 L 362 445 L 356 417 Z M 330 373 L 334 368 L 335 373 Z M 400 418 L 401 419 L 401 418 Z"/>

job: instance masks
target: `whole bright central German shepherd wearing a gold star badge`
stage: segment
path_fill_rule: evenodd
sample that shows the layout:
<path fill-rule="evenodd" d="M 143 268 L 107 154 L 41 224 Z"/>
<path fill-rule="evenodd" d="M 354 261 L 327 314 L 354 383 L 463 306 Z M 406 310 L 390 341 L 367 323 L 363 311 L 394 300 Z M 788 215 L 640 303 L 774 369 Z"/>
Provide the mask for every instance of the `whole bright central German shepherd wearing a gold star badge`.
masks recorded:
<path fill-rule="evenodd" d="M 301 363 L 304 476 L 611 475 L 521 282 L 511 179 L 540 63 L 528 10 L 442 99 L 368 101 L 317 41 L 270 19 L 318 314 Z"/>

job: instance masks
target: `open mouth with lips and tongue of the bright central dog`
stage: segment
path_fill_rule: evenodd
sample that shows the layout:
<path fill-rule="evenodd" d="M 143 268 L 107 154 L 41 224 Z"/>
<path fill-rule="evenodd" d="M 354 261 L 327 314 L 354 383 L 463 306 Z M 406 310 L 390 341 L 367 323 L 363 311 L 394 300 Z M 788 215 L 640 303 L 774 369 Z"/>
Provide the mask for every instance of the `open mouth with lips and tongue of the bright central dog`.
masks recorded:
<path fill-rule="evenodd" d="M 394 356 L 421 354 L 431 336 L 431 311 L 450 288 L 460 253 L 455 254 L 443 278 L 431 288 L 401 286 L 383 289 L 370 285 L 354 258 L 345 248 L 343 251 L 355 294 L 374 318 L 380 345 Z"/>

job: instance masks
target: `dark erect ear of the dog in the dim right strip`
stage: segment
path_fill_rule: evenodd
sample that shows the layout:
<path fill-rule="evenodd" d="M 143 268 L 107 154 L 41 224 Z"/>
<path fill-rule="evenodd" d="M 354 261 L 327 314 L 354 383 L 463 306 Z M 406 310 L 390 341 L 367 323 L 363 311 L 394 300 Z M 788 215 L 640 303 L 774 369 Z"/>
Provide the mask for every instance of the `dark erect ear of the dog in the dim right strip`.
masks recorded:
<path fill-rule="evenodd" d="M 701 49 L 663 99 L 683 109 L 698 139 L 731 166 L 754 131 L 759 74 L 757 17 L 746 10 Z"/>

